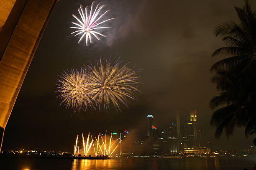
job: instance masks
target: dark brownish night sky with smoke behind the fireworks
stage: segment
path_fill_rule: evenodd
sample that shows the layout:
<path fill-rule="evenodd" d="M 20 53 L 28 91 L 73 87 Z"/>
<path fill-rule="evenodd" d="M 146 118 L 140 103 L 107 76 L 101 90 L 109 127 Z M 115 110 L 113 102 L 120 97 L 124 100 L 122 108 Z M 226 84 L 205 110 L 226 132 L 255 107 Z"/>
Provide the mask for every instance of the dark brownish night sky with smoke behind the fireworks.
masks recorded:
<path fill-rule="evenodd" d="M 96 1 L 99 2 L 99 1 Z M 223 134 L 214 139 L 215 127 L 210 126 L 210 99 L 218 94 L 210 83 L 210 67 L 223 57 L 211 54 L 224 44 L 215 38 L 215 27 L 228 20 L 237 20 L 234 6 L 243 0 L 103 0 L 112 29 L 91 46 L 78 44 L 71 35 L 72 14 L 79 15 L 80 4 L 91 0 L 60 0 L 51 15 L 37 48 L 27 76 L 20 89 L 13 112 L 5 129 L 3 150 L 38 147 L 43 150 L 69 150 L 78 133 L 92 134 L 105 130 L 127 129 L 134 134 L 146 134 L 146 116 L 154 115 L 159 130 L 181 111 L 181 123 L 189 120 L 189 112 L 198 113 L 198 129 L 212 145 L 252 145 L 243 130 L 236 129 L 230 140 Z M 251 0 L 253 8 L 256 3 Z M 107 18 L 108 19 L 108 18 Z M 63 71 L 81 68 L 89 61 L 118 58 L 123 63 L 142 69 L 143 84 L 138 101 L 129 108 L 121 106 L 105 112 L 88 110 L 74 114 L 59 106 L 56 80 Z M 136 136 L 134 135 L 134 136 Z"/>

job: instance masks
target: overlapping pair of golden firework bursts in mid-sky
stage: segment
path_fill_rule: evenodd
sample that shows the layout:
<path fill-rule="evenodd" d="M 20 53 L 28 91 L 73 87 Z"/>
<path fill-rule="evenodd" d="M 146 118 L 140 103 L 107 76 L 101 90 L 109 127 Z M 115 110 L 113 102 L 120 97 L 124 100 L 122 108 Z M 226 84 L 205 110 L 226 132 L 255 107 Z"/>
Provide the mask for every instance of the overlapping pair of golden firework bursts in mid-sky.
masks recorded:
<path fill-rule="evenodd" d="M 120 104 L 128 107 L 128 99 L 136 99 L 133 93 L 138 91 L 140 80 L 137 72 L 127 63 L 121 66 L 121 61 L 112 64 L 108 59 L 104 63 L 98 61 L 97 65 L 88 64 L 81 71 L 72 69 L 61 74 L 57 98 L 74 112 L 86 110 L 88 106 L 96 109 L 100 105 L 108 111 L 110 104 L 120 111 Z"/>

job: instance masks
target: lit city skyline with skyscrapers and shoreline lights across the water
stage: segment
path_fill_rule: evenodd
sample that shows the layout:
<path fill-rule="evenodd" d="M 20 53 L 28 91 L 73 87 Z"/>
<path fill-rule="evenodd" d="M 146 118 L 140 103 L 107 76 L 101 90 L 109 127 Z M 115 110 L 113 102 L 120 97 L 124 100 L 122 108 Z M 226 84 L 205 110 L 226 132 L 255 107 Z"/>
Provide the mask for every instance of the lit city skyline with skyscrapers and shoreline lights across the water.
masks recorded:
<path fill-rule="evenodd" d="M 215 152 L 220 154 L 224 152 L 233 152 L 232 150 L 239 150 L 242 154 L 244 149 L 248 149 L 253 151 L 252 145 L 244 146 L 243 149 L 237 149 L 236 147 L 232 145 L 223 146 L 223 145 L 212 145 L 211 141 L 206 140 L 204 138 L 204 132 L 203 130 L 197 129 L 195 127 L 194 123 L 197 122 L 198 119 L 198 112 L 197 111 L 190 111 L 187 113 L 188 121 L 178 128 L 177 124 L 179 124 L 179 113 L 180 111 L 176 111 L 176 117 L 170 119 L 167 123 L 163 124 L 154 124 L 154 115 L 150 114 L 146 116 L 146 122 L 147 122 L 147 128 L 144 132 L 137 132 L 130 129 L 115 129 L 112 132 L 99 132 L 98 135 L 103 137 L 107 137 L 107 140 L 110 140 L 112 138 L 113 141 L 117 140 L 116 144 L 120 144 L 119 142 L 122 140 L 122 149 L 120 146 L 118 146 L 115 151 L 115 154 L 122 153 L 123 155 L 179 155 L 179 154 L 200 154 L 200 153 L 207 153 L 207 155 L 215 154 Z M 184 122 L 184 121 L 182 121 Z M 197 125 L 200 124 L 200 122 L 197 122 Z M 150 129 L 150 130 L 149 130 Z M 198 135 L 198 139 L 195 138 L 195 130 Z M 179 134 L 180 132 L 180 134 Z M 88 134 L 89 135 L 95 135 L 95 134 Z M 179 136 L 180 135 L 180 136 Z M 83 152 L 83 145 L 82 141 L 84 138 L 77 135 L 78 139 L 78 145 L 77 145 L 77 151 L 75 153 L 78 155 L 79 152 Z M 110 138 L 110 136 L 112 136 Z M 181 143 L 179 143 L 179 138 Z M 101 138 L 100 138 L 101 139 Z M 91 140 L 89 140 L 90 143 Z M 97 142 L 97 140 L 94 140 L 93 143 Z M 136 147 L 137 145 L 137 147 Z M 88 145 L 89 146 L 89 145 Z M 133 147 L 131 147 L 133 146 Z M 134 147 L 135 146 L 135 147 Z M 16 148 L 16 149 L 10 149 L 10 150 L 4 150 L 4 152 L 8 151 L 10 153 L 14 152 L 45 152 L 44 150 L 41 150 L 40 147 L 24 147 L 27 149 L 22 148 Z M 68 147 L 67 147 L 68 148 Z M 79 149 L 80 148 L 80 149 Z M 131 149 L 133 148 L 133 149 Z M 118 151 L 120 149 L 120 151 Z M 11 151 L 13 150 L 13 151 Z M 31 150 L 31 151 L 29 151 Z M 38 150 L 38 151 L 37 151 Z M 78 152 L 79 150 L 79 152 Z M 88 149 L 89 151 L 90 149 Z M 246 151 L 245 150 L 245 151 Z M 99 150 L 100 151 L 100 150 Z M 47 151 L 48 152 L 48 151 Z M 59 154 L 59 152 L 63 151 L 49 151 L 52 154 Z M 72 154 L 72 151 L 67 150 L 64 151 L 68 154 Z M 119 153 L 120 152 L 120 153 Z M 247 153 L 247 152 L 246 152 Z M 250 153 L 250 152 L 248 152 Z M 37 153 L 34 153 L 37 154 Z M 80 155 L 81 155 L 80 154 Z M 91 150 L 88 152 L 88 155 L 93 155 L 93 149 L 91 147 Z M 235 154 L 235 152 L 234 152 Z"/>

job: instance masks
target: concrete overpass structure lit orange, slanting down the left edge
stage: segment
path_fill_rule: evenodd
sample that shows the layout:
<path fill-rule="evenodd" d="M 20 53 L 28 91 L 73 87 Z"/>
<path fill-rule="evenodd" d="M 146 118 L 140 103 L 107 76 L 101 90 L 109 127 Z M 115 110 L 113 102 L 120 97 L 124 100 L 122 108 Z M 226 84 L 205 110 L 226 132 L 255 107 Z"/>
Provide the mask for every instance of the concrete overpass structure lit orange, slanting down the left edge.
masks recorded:
<path fill-rule="evenodd" d="M 57 1 L 0 1 L 0 150 L 20 87 Z"/>

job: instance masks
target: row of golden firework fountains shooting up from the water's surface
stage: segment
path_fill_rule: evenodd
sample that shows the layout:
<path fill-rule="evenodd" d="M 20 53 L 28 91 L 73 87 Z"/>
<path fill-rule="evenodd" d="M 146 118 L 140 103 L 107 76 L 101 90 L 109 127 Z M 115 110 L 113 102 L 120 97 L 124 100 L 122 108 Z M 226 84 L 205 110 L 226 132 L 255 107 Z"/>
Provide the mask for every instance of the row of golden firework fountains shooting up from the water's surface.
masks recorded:
<path fill-rule="evenodd" d="M 77 134 L 77 139 L 74 145 L 74 156 L 79 155 L 79 146 L 77 146 L 78 138 L 79 138 L 79 134 Z M 92 135 L 90 135 L 90 132 L 89 132 L 86 142 L 84 141 L 84 135 L 82 134 L 82 142 L 83 142 L 83 148 L 84 148 L 83 151 L 84 151 L 85 157 L 89 156 L 89 153 L 93 153 L 95 156 L 102 155 L 102 156 L 110 157 L 111 155 L 113 155 L 116 148 L 120 145 L 121 140 L 120 139 L 113 140 L 112 133 L 108 138 L 107 132 L 105 132 L 105 137 L 102 137 L 102 134 L 99 133 L 94 140 Z"/>

